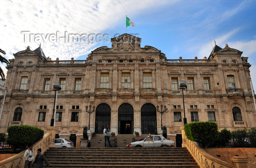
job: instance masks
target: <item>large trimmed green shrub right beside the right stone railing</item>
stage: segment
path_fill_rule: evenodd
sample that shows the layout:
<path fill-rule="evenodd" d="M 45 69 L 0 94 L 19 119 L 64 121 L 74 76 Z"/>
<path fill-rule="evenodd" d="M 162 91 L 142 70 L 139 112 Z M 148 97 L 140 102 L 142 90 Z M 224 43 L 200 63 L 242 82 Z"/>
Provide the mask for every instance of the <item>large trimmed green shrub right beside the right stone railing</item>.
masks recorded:
<path fill-rule="evenodd" d="M 203 148 L 218 140 L 218 125 L 215 122 L 192 122 L 184 126 L 186 137 Z"/>

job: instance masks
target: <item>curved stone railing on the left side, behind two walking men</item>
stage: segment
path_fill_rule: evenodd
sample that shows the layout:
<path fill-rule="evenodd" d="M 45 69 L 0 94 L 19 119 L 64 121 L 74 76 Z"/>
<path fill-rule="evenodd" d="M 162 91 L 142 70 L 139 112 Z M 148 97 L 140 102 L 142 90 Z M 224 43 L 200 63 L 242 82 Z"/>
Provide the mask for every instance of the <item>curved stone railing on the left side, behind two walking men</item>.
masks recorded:
<path fill-rule="evenodd" d="M 55 139 L 56 127 L 46 127 L 46 129 L 47 129 L 47 133 L 44 135 L 44 137 L 38 142 L 36 142 L 36 144 L 33 144 L 34 159 L 35 159 L 35 156 L 37 155 L 37 149 L 41 148 L 42 153 L 44 153 L 47 149 L 51 147 L 55 147 L 54 139 Z M 0 161 L 0 168 L 24 167 L 25 160 L 23 159 L 23 156 L 26 150 L 27 149 L 16 154 L 15 156 L 12 156 L 8 159 Z"/>

